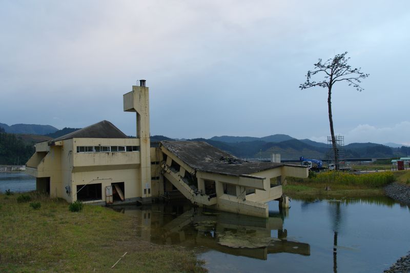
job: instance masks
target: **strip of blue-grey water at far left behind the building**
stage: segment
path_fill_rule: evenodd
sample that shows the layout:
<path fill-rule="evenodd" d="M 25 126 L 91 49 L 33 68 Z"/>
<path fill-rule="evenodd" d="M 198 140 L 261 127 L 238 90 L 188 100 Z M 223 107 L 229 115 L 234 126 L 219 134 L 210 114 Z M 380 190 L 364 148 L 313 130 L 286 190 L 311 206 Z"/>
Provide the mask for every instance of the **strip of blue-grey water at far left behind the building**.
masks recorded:
<path fill-rule="evenodd" d="M 35 190 L 35 178 L 24 172 L 0 172 L 0 191 L 14 192 Z"/>

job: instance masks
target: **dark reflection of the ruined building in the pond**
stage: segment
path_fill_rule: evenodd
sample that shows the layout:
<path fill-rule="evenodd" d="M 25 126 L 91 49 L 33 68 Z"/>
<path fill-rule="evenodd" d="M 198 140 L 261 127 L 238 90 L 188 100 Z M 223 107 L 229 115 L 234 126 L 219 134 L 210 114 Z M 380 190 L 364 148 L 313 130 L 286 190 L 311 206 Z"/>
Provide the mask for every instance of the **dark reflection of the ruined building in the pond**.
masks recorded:
<path fill-rule="evenodd" d="M 288 240 L 282 214 L 263 219 L 207 211 L 187 203 L 130 206 L 122 212 L 136 217 L 137 236 L 156 244 L 206 247 L 262 260 L 270 253 L 310 255 L 309 244 Z"/>

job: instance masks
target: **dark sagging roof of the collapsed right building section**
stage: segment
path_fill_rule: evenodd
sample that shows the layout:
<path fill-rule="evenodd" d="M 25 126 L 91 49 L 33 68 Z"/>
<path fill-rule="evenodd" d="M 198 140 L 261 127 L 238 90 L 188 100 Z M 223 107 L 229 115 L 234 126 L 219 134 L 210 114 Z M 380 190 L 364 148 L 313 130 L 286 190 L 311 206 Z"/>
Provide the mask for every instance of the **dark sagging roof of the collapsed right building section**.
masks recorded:
<path fill-rule="evenodd" d="M 161 141 L 160 143 L 177 158 L 200 171 L 240 176 L 285 166 L 282 163 L 244 161 L 202 141 Z M 300 167 L 304 168 L 304 166 Z"/>

